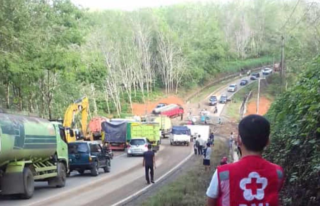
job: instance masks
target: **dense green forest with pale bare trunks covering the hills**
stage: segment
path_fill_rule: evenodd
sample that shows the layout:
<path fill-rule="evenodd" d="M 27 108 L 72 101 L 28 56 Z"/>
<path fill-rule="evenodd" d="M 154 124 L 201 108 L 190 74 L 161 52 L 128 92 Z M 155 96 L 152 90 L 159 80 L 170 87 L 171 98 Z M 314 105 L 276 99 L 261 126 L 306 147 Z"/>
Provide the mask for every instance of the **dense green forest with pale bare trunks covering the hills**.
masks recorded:
<path fill-rule="evenodd" d="M 279 61 L 281 35 L 290 83 L 319 51 L 318 16 L 308 1 L 90 11 L 69 0 L 2 0 L 0 107 L 57 118 L 86 95 L 92 113 L 120 116 L 155 91 Z"/>

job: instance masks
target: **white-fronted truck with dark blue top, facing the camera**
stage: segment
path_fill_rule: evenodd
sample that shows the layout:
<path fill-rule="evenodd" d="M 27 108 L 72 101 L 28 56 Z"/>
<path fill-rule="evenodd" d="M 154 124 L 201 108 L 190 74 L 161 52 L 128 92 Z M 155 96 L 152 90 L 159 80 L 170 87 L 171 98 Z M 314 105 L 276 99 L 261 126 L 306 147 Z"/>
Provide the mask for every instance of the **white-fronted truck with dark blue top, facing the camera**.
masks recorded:
<path fill-rule="evenodd" d="M 186 126 L 173 126 L 170 133 L 170 145 L 183 144 L 189 146 L 191 131 Z"/>

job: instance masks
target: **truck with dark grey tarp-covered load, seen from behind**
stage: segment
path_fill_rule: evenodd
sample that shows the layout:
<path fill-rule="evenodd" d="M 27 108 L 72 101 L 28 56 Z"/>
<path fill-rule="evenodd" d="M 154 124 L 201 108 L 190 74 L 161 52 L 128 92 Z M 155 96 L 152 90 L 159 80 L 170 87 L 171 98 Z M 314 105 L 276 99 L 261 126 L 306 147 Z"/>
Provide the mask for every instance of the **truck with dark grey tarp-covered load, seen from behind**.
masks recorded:
<path fill-rule="evenodd" d="M 103 122 L 102 137 L 103 143 L 107 142 L 112 150 L 124 150 L 127 138 L 127 122 Z"/>

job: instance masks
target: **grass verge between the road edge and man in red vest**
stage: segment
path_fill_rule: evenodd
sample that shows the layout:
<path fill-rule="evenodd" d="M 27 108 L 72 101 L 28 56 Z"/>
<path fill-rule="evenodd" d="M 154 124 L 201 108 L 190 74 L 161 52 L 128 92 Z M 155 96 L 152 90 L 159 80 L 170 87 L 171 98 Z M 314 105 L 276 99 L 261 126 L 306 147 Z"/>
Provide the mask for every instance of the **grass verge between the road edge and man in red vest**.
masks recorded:
<path fill-rule="evenodd" d="M 211 154 L 211 171 L 204 172 L 202 157 L 194 161 L 193 166 L 186 174 L 177 180 L 163 186 L 160 190 L 142 202 L 141 206 L 194 206 L 205 205 L 205 192 L 209 186 L 212 174 L 222 156 L 227 156 L 228 146 L 226 139 L 216 137 Z"/>

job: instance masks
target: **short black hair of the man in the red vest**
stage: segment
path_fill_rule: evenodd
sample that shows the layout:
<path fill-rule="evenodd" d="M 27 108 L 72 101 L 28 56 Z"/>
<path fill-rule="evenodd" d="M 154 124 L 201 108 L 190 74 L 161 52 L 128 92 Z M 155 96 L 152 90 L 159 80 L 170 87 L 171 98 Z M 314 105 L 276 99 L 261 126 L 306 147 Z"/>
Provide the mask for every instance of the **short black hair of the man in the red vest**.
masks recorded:
<path fill-rule="evenodd" d="M 270 134 L 270 123 L 260 115 L 248 115 L 239 123 L 239 135 L 246 149 L 262 152 L 267 146 Z"/>

